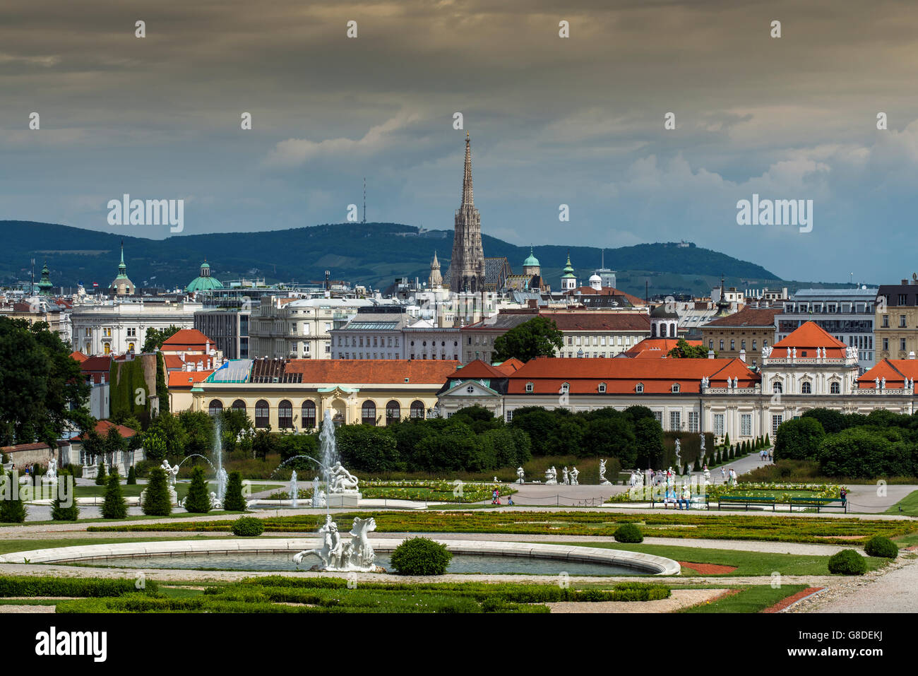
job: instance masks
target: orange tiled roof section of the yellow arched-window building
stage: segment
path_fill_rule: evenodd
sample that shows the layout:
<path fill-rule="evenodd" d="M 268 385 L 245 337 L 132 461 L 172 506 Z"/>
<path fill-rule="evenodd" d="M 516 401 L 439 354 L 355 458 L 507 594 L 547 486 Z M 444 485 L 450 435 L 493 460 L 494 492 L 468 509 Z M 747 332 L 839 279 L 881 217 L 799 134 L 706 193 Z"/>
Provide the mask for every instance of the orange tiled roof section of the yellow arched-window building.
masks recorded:
<path fill-rule="evenodd" d="M 313 383 L 401 384 L 409 378 L 409 383 L 440 385 L 456 366 L 453 359 L 291 359 L 285 371 Z"/>

